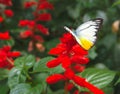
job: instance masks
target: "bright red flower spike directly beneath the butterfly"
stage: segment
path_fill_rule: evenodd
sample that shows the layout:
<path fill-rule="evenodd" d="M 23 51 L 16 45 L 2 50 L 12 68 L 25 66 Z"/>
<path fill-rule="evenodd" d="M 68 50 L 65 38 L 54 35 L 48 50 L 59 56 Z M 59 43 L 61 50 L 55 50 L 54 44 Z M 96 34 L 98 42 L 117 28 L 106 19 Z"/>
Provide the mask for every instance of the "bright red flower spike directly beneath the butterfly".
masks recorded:
<path fill-rule="evenodd" d="M 61 43 L 49 52 L 49 54 L 57 55 L 58 57 L 49 61 L 47 67 L 53 68 L 61 64 L 65 72 L 49 76 L 46 79 L 47 83 L 53 84 L 64 80 L 67 82 L 65 88 L 67 87 L 67 90 L 70 90 L 73 85 L 70 85 L 69 81 L 72 80 L 77 85 L 88 88 L 94 94 L 104 94 L 102 90 L 87 82 L 85 78 L 76 75 L 77 72 L 82 72 L 85 68 L 84 65 L 89 62 L 87 58 L 88 52 L 80 47 L 69 33 L 64 34 L 60 40 Z"/>

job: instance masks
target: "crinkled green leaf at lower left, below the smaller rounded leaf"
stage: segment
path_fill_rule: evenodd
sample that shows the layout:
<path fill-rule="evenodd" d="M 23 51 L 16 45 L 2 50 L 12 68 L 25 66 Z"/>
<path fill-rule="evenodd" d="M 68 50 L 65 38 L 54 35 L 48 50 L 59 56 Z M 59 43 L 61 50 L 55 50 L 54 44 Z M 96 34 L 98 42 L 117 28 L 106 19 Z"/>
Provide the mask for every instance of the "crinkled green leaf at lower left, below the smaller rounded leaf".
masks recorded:
<path fill-rule="evenodd" d="M 10 71 L 8 77 L 8 85 L 10 88 L 13 88 L 19 83 L 23 83 L 25 81 L 26 81 L 26 75 L 22 68 L 15 67 Z"/>

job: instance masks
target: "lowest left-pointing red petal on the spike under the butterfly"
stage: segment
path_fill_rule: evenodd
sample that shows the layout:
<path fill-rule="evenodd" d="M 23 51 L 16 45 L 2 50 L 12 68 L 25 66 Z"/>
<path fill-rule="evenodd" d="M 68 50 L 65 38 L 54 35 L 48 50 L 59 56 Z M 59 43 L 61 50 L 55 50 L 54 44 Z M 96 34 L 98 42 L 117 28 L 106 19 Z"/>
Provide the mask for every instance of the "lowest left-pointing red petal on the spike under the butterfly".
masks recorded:
<path fill-rule="evenodd" d="M 61 80 L 65 80 L 65 77 L 63 75 L 61 75 L 61 74 L 54 74 L 54 75 L 49 76 L 46 79 L 46 82 L 48 84 L 55 84 L 55 83 L 57 83 L 58 81 L 61 81 Z"/>

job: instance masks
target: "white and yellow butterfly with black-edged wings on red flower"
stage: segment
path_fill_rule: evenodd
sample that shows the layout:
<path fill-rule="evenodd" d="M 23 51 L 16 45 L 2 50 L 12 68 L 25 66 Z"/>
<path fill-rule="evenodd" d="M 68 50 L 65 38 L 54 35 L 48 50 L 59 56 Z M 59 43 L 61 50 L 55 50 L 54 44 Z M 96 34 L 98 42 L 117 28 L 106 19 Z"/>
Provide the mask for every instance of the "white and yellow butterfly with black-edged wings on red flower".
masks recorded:
<path fill-rule="evenodd" d="M 102 18 L 96 18 L 81 24 L 75 31 L 72 31 L 66 26 L 64 28 L 74 36 L 82 48 L 89 50 L 96 42 L 96 34 L 102 22 Z"/>

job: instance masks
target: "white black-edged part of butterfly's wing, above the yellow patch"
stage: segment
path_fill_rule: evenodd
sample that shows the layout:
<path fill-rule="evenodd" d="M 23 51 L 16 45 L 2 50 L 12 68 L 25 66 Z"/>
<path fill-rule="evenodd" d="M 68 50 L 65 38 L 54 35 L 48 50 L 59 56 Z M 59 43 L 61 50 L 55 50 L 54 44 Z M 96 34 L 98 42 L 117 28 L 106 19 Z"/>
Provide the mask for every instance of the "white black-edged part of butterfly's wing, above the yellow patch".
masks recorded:
<path fill-rule="evenodd" d="M 83 23 L 76 29 L 75 31 L 76 36 L 78 36 L 79 38 L 84 37 L 91 41 L 92 43 L 95 43 L 97 38 L 96 32 L 99 30 L 102 21 L 103 19 L 97 18 Z"/>

